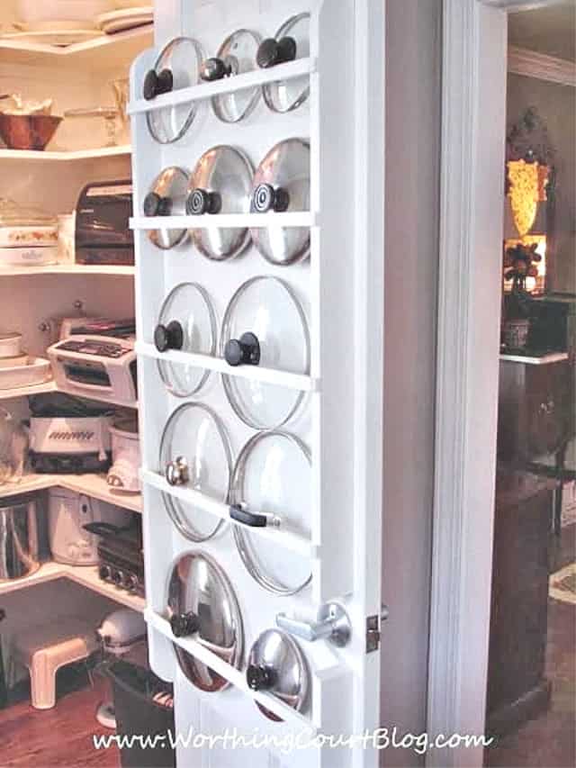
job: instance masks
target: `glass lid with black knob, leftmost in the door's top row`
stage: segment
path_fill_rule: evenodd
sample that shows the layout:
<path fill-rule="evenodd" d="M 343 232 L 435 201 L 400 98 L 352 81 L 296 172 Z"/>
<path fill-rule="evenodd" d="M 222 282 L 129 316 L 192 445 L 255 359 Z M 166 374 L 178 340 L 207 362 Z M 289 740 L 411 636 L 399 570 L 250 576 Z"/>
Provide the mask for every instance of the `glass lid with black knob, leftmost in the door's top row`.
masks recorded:
<path fill-rule="evenodd" d="M 144 77 L 142 95 L 147 101 L 153 101 L 158 95 L 195 86 L 200 81 L 202 59 L 198 41 L 175 38 L 160 52 L 154 68 Z M 146 113 L 148 131 L 160 144 L 171 144 L 184 136 L 197 108 L 197 102 L 190 102 L 152 109 Z"/>

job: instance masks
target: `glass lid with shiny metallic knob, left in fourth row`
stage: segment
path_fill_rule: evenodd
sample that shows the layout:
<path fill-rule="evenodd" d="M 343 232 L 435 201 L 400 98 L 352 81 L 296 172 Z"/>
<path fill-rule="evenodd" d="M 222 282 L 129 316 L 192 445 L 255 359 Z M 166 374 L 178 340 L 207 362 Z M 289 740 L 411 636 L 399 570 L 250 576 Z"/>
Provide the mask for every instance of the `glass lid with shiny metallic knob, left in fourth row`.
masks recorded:
<path fill-rule="evenodd" d="M 160 443 L 160 472 L 173 487 L 188 488 L 226 503 L 231 459 L 229 439 L 218 416 L 207 406 L 189 402 L 166 423 Z M 206 541 L 222 525 L 192 503 L 162 494 L 175 527 L 191 541 Z"/>

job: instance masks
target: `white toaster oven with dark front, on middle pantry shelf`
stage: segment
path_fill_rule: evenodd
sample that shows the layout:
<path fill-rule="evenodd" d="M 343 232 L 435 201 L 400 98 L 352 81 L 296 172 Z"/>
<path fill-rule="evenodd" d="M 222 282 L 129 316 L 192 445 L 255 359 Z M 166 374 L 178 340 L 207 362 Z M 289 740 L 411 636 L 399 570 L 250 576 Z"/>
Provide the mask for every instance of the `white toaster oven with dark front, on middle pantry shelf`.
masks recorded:
<path fill-rule="evenodd" d="M 78 334 L 53 344 L 47 353 L 59 389 L 135 407 L 134 339 Z"/>

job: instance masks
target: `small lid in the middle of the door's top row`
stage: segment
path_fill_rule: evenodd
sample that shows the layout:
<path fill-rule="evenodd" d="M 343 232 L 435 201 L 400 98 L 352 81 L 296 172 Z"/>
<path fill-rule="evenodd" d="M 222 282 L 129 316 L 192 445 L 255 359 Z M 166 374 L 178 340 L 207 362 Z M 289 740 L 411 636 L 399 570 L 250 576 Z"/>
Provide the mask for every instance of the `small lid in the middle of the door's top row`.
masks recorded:
<path fill-rule="evenodd" d="M 202 63 L 200 77 L 206 82 L 234 77 L 257 68 L 256 57 L 260 36 L 250 30 L 237 30 L 220 45 L 213 59 Z M 260 97 L 260 88 L 243 88 L 234 94 L 213 96 L 214 114 L 222 122 L 238 122 L 252 112 Z"/>

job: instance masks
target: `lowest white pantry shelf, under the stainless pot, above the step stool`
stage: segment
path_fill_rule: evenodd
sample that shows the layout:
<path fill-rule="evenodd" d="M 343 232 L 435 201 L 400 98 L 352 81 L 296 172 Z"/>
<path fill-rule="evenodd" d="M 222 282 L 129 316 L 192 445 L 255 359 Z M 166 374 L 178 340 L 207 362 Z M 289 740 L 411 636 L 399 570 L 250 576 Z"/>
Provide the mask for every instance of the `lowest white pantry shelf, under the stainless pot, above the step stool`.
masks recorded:
<path fill-rule="evenodd" d="M 146 608 L 146 601 L 138 595 L 130 594 L 126 590 L 121 590 L 114 584 L 103 582 L 98 576 L 97 565 L 64 565 L 62 563 L 44 563 L 31 576 L 23 579 L 15 579 L 8 582 L 0 582 L 0 596 L 10 594 L 10 592 L 19 592 L 29 589 L 38 584 L 54 582 L 58 579 L 67 579 L 91 590 L 104 597 L 110 598 L 115 602 L 121 603 L 128 608 L 138 610 L 143 613 Z"/>

